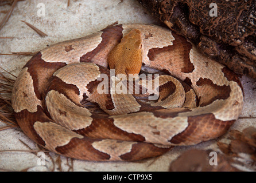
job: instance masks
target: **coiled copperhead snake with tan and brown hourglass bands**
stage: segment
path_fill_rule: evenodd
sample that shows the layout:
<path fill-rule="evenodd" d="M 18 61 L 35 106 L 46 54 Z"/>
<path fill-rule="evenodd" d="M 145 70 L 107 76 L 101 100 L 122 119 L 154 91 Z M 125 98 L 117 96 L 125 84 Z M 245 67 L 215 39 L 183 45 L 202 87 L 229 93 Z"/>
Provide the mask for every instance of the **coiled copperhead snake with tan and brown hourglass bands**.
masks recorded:
<path fill-rule="evenodd" d="M 115 93 L 125 79 L 109 69 L 116 75 L 158 74 L 148 83 L 159 86 L 144 94 Z M 101 86 L 102 74 L 117 82 Z M 139 89 L 147 87 L 138 83 Z M 150 101 L 153 90 L 158 99 Z M 38 52 L 18 75 L 11 104 L 24 133 L 52 152 L 133 161 L 222 136 L 241 113 L 243 89 L 236 74 L 184 37 L 129 23 Z"/>

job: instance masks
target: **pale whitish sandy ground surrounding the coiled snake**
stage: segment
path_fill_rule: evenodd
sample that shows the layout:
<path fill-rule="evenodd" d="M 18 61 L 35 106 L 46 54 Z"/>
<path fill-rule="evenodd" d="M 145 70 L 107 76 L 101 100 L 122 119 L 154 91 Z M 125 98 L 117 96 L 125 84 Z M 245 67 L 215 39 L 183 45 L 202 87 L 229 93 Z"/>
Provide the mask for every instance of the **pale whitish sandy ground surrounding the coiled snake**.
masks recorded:
<path fill-rule="evenodd" d="M 45 16 L 38 16 L 39 3 L 45 5 Z M 0 6 L 0 11 L 8 10 L 10 6 Z M 40 14 L 39 14 L 40 15 Z M 5 16 L 0 14 L 0 19 Z M 26 21 L 48 34 L 40 37 L 36 32 L 25 25 Z M 143 22 L 161 25 L 135 0 L 98 0 L 82 1 L 71 0 L 69 7 L 67 1 L 20 1 L 15 6 L 13 14 L 5 27 L 0 31 L 0 37 L 14 37 L 13 39 L 0 39 L 0 53 L 11 52 L 37 52 L 46 45 L 52 45 L 67 39 L 82 37 L 84 35 L 101 30 L 107 25 L 118 21 L 119 23 Z M 31 56 L 6 56 L 0 55 L 0 66 L 17 75 L 22 66 Z M 242 110 L 243 118 L 235 122 L 231 129 L 242 130 L 248 126 L 256 127 L 256 81 L 247 77 L 241 78 L 245 90 L 245 105 Z M 0 126 L 4 124 L 0 122 Z M 219 140 L 224 139 L 225 136 Z M 7 129 L 0 132 L 1 150 L 29 150 L 21 141 L 30 148 L 37 146 L 21 131 L 20 128 Z M 0 170 L 49 171 L 69 170 L 73 164 L 75 171 L 166 171 L 169 164 L 180 153 L 189 148 L 216 149 L 216 140 L 201 143 L 196 146 L 176 147 L 158 158 L 138 162 L 90 162 L 71 161 L 69 158 L 49 153 L 55 161 L 55 167 L 51 158 L 46 155 L 45 165 L 38 165 L 37 154 L 29 152 L 0 152 Z M 61 167 L 60 165 L 61 164 Z"/>

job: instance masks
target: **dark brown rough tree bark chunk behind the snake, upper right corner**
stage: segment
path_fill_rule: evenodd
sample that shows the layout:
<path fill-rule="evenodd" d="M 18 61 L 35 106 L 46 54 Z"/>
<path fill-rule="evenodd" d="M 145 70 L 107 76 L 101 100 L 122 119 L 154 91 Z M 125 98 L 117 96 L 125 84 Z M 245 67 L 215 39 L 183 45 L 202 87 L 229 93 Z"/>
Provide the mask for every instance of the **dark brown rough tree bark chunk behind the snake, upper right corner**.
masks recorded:
<path fill-rule="evenodd" d="M 201 53 L 256 79 L 256 0 L 138 0 Z M 212 11 L 211 11 L 212 12 Z"/>

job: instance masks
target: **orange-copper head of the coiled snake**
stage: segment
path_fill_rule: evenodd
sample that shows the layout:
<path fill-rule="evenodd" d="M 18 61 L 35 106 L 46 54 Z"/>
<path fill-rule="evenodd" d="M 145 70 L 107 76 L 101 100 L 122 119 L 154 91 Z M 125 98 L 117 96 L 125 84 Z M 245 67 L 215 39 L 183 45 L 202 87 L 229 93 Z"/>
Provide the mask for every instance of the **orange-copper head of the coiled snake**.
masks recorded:
<path fill-rule="evenodd" d="M 142 65 L 141 31 L 133 29 L 126 34 L 110 52 L 107 61 L 110 69 L 115 69 L 115 75 L 138 75 Z"/>

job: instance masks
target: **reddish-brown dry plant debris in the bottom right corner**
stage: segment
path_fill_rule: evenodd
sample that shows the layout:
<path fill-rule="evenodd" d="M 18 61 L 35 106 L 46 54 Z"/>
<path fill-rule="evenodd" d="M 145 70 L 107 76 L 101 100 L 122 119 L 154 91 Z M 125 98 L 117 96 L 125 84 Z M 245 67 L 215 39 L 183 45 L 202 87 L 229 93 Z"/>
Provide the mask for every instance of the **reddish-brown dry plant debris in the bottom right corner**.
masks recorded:
<path fill-rule="evenodd" d="M 170 164 L 170 171 L 180 172 L 238 172 L 256 171 L 256 128 L 242 132 L 231 130 L 229 144 L 217 142 L 222 152 L 216 152 L 218 165 L 210 165 L 210 153 L 214 150 L 191 149 Z"/>

